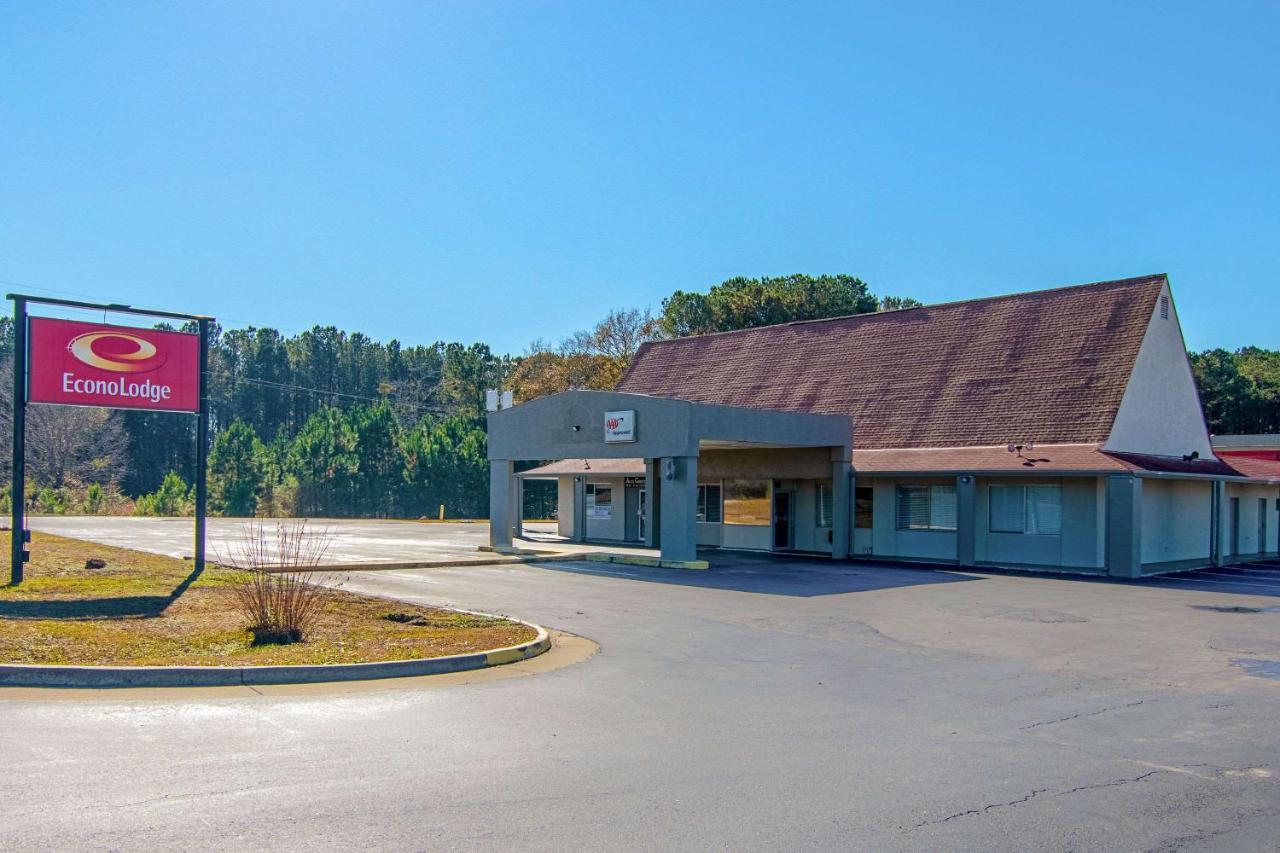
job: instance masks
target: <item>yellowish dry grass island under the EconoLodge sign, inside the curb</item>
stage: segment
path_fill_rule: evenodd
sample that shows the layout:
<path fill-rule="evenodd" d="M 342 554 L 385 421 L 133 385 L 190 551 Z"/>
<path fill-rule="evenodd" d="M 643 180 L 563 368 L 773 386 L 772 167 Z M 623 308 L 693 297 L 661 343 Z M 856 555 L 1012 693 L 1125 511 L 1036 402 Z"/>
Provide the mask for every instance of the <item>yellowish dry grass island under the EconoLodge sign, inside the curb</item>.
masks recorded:
<path fill-rule="evenodd" d="M 0 533 L 8 553 L 9 533 Z M 33 534 L 18 587 L 0 587 L 0 663 L 266 666 L 467 654 L 535 638 L 506 619 L 324 593 L 305 642 L 253 644 L 236 606 L 247 573 Z M 90 560 L 105 561 L 90 569 Z"/>

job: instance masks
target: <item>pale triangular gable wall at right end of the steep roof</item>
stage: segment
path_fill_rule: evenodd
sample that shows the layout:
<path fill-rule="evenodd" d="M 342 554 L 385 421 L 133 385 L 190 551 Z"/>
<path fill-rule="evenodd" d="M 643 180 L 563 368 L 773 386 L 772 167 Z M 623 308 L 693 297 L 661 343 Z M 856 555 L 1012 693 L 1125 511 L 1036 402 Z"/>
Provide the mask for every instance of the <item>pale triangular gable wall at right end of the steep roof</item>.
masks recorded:
<path fill-rule="evenodd" d="M 1169 319 L 1160 316 L 1157 298 L 1105 448 L 1156 456 L 1196 451 L 1208 459 L 1213 451 L 1167 284 L 1161 296 L 1169 300 Z"/>

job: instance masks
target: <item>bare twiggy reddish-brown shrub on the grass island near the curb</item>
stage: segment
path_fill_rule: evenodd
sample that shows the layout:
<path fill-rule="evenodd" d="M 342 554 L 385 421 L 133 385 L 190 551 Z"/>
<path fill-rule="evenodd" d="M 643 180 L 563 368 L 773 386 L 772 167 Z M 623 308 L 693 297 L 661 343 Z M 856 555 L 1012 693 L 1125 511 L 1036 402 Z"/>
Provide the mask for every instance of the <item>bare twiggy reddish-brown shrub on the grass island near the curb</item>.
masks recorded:
<path fill-rule="evenodd" d="M 312 573 L 332 540 L 328 529 L 308 530 L 305 519 L 244 525 L 228 562 L 250 573 L 234 592 L 255 646 L 301 643 L 315 628 L 328 590 L 312 583 Z"/>

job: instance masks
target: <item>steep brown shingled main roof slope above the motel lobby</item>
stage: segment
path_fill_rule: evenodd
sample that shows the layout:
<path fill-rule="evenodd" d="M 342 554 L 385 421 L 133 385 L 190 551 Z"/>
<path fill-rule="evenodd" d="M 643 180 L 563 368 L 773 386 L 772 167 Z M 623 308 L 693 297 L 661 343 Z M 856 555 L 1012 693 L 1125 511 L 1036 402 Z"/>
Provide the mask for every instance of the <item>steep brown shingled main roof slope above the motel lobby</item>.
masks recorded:
<path fill-rule="evenodd" d="M 859 448 L 1100 443 L 1165 280 L 658 341 L 617 389 L 852 415 Z"/>

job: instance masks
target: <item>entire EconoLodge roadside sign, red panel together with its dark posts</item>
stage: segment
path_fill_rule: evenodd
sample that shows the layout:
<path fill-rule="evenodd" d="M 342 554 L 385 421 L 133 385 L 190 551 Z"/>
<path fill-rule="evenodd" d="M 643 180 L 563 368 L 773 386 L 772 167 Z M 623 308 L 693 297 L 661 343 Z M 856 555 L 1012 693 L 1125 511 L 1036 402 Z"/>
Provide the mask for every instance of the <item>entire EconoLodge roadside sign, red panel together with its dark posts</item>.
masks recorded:
<path fill-rule="evenodd" d="M 205 516 L 209 510 L 209 488 L 207 488 L 207 456 L 209 456 L 209 338 L 212 329 L 214 318 L 202 314 L 178 314 L 174 311 L 154 311 L 150 309 L 136 309 L 129 305 L 102 305 L 99 302 L 79 302 L 76 300 L 55 300 L 44 296 L 24 296 L 22 293 L 9 293 L 10 300 L 13 300 L 13 485 L 10 491 L 12 497 L 12 516 L 10 516 L 10 532 L 12 532 L 12 553 L 10 553 L 10 583 L 22 583 L 23 576 L 23 564 L 29 560 L 27 552 L 27 542 L 29 540 L 29 533 L 26 529 L 26 420 L 27 420 L 27 405 L 29 402 L 50 403 L 50 405 L 88 405 L 88 406 L 106 406 L 111 409 L 142 409 L 150 411 L 173 411 L 173 412 L 187 412 L 193 414 L 197 418 L 196 421 L 196 548 L 195 548 L 195 562 L 196 570 L 204 570 L 205 567 Z M 134 329 L 133 327 L 109 327 L 105 323 L 101 324 L 100 330 L 81 334 L 72 339 L 67 346 L 61 346 L 63 338 L 50 337 L 52 333 L 46 329 L 46 327 L 55 327 L 61 324 L 63 327 L 77 325 L 76 323 L 56 321 L 51 319 L 36 318 L 32 320 L 28 316 L 27 306 L 35 302 L 40 305 L 56 305 L 60 307 L 73 307 L 73 309 L 87 309 L 92 311 L 104 311 L 113 314 L 133 314 L 138 316 L 154 316 L 164 318 L 169 320 L 188 320 L 195 321 L 200 327 L 200 356 L 198 356 L 198 371 L 195 378 L 196 382 L 196 400 L 186 398 L 183 391 L 189 389 L 189 361 L 177 361 L 174 364 L 187 364 L 186 371 L 179 371 L 177 379 L 169 379 L 174 382 L 174 386 L 161 384 L 161 382 L 152 383 L 151 380 L 134 382 L 127 375 L 134 375 L 145 373 L 147 370 L 154 370 L 155 373 L 148 375 L 161 377 L 166 375 L 166 370 L 173 369 L 173 364 L 166 365 L 166 356 L 159 355 L 157 348 L 175 348 L 177 351 L 186 350 L 186 359 L 192 359 L 195 352 L 188 348 L 184 342 L 191 341 L 189 333 L 179 334 L 174 332 L 157 332 L 146 329 Z M 36 337 L 32 337 L 32 329 L 38 325 L 44 329 Z M 79 324 L 87 325 L 87 324 Z M 90 327 L 92 328 L 92 327 Z M 166 337 L 168 336 L 168 337 Z M 132 351 L 116 352 L 113 355 L 105 355 L 102 351 L 95 351 L 95 342 L 102 338 L 115 338 L 125 339 L 129 346 L 134 347 Z M 35 345 L 33 345 L 35 341 Z M 58 342 L 56 347 L 45 347 L 40 350 L 41 342 Z M 168 341 L 168 342 L 166 342 Z M 179 346 L 180 345 L 180 346 Z M 111 373 L 99 373 L 100 378 L 93 379 L 77 379 L 73 373 L 59 374 L 60 382 L 56 382 L 52 389 L 45 387 L 49 386 L 47 379 L 42 373 L 37 373 L 36 384 L 32 386 L 32 359 L 31 350 L 36 346 L 37 350 L 44 352 L 41 355 L 41 362 L 47 366 L 47 362 L 58 362 L 60 359 L 67 359 L 68 353 L 79 359 L 83 364 L 79 369 L 88 366 L 88 373 L 92 377 L 92 370 L 114 370 Z M 64 351 L 65 350 L 65 351 Z M 145 366 L 145 361 L 155 356 L 157 364 L 155 366 Z M 141 364 L 140 364 L 141 362 Z M 74 362 L 70 362 L 74 364 Z M 105 379 L 101 377 L 115 377 L 114 379 Z M 44 383 L 44 384 L 42 384 Z M 33 393 L 32 388 L 38 393 Z M 177 389 L 179 393 L 173 394 L 172 392 Z M 79 394 L 79 396 L 68 396 Z M 195 405 L 198 400 L 198 406 Z"/>

